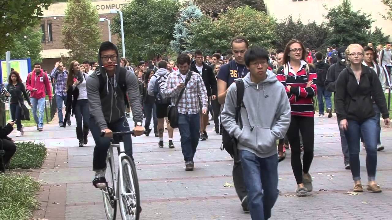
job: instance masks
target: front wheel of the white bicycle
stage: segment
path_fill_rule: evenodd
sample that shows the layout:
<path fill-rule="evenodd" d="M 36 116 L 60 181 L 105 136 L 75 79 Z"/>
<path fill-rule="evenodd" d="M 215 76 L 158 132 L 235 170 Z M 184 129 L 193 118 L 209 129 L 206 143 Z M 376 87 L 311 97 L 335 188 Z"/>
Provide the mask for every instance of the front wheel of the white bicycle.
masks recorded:
<path fill-rule="evenodd" d="M 128 156 L 122 157 L 121 164 L 123 181 L 120 181 L 120 172 L 118 173 L 118 195 L 121 216 L 124 220 L 139 220 L 141 208 L 136 167 Z"/>

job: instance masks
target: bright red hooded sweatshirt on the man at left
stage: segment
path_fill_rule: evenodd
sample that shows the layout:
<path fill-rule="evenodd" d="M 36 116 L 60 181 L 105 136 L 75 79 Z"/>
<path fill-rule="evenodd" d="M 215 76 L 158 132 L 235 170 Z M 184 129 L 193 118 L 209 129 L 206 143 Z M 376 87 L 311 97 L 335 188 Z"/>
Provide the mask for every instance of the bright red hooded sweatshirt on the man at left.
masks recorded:
<path fill-rule="evenodd" d="M 49 95 L 49 99 L 52 99 L 52 89 L 49 82 L 49 78 L 46 73 L 41 69 L 39 74 L 36 74 L 35 71 L 30 72 L 27 75 L 26 79 L 26 88 L 31 92 L 30 97 L 41 99 L 46 96 L 45 89 Z M 37 91 L 33 91 L 33 89 Z"/>

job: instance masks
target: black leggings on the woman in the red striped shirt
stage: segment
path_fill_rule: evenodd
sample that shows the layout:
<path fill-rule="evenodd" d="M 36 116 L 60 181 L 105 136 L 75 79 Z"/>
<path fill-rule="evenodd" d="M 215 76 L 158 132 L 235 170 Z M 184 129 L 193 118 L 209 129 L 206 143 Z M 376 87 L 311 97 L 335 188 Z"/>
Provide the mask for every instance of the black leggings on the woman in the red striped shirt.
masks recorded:
<path fill-rule="evenodd" d="M 301 143 L 299 132 L 303 138 L 303 168 L 301 164 Z M 313 160 L 314 118 L 292 115 L 287 138 L 291 145 L 291 167 L 297 184 L 302 182 L 302 172 L 308 173 Z"/>

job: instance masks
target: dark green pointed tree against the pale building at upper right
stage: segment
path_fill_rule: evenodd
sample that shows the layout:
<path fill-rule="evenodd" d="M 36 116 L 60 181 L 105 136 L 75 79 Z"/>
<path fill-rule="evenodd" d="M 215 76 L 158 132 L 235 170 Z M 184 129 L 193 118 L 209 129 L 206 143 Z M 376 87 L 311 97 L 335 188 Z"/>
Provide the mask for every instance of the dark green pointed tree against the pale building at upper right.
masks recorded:
<path fill-rule="evenodd" d="M 369 40 L 368 33 L 374 20 L 370 14 L 353 11 L 350 0 L 343 0 L 340 5 L 330 9 L 325 18 L 328 20 L 328 27 L 332 29 L 327 41 L 329 45 L 363 45 Z"/>

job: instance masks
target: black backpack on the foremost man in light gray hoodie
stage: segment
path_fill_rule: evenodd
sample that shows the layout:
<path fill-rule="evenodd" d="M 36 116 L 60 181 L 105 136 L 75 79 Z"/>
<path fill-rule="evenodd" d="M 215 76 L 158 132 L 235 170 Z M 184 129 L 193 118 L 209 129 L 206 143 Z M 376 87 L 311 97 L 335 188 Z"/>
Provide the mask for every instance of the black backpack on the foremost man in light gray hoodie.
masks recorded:
<path fill-rule="evenodd" d="M 244 92 L 245 92 L 245 85 L 244 82 L 242 81 L 242 78 L 235 79 L 234 80 L 237 86 L 237 103 L 236 103 L 236 122 L 240 122 L 240 127 L 242 129 L 242 121 L 240 119 L 240 110 L 241 110 L 241 105 L 243 105 L 243 97 L 244 97 Z M 236 155 L 237 154 L 237 144 L 238 140 L 234 137 L 231 137 L 229 135 L 229 132 L 225 130 L 225 128 L 222 128 L 222 144 L 221 144 L 221 150 L 226 150 L 227 153 L 230 155 Z"/>

